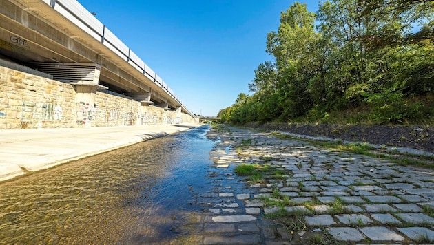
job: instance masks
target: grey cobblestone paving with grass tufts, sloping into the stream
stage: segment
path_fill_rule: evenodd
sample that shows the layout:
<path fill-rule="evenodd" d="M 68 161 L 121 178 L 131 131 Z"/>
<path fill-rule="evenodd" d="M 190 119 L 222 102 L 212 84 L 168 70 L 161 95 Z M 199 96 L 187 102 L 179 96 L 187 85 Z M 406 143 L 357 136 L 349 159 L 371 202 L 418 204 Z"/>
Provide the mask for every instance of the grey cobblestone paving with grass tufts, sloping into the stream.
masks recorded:
<path fill-rule="evenodd" d="M 189 244 L 434 244 L 434 174 L 244 129 L 220 137 Z M 257 175 L 238 176 L 251 164 Z M 255 179 L 256 178 L 256 179 Z M 255 180 L 255 181 L 251 181 Z"/>

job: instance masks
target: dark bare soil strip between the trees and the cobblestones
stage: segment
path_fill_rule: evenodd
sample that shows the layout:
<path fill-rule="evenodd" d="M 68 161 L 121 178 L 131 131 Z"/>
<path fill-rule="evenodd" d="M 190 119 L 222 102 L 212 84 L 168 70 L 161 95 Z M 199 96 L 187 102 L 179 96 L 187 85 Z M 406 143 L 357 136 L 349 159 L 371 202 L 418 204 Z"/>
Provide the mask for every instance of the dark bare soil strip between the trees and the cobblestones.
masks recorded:
<path fill-rule="evenodd" d="M 266 130 L 287 131 L 305 136 L 323 136 L 388 147 L 409 147 L 434 153 L 434 127 L 389 125 L 307 125 L 269 123 L 246 125 Z"/>

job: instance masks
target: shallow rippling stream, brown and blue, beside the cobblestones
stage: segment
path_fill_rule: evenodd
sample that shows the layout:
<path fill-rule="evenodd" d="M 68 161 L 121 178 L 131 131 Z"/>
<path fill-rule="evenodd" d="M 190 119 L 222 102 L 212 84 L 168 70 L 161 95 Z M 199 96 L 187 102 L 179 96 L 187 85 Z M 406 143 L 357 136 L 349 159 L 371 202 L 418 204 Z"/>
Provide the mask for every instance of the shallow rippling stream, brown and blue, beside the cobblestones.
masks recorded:
<path fill-rule="evenodd" d="M 0 184 L 0 244 L 167 244 L 196 211 L 208 126 Z"/>

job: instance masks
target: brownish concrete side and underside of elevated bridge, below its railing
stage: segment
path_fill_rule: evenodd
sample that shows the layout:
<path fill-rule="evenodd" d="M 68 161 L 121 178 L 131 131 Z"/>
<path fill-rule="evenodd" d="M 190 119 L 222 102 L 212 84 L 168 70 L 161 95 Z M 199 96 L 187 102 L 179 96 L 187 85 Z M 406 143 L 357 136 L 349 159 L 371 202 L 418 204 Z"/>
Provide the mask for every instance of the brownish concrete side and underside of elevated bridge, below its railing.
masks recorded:
<path fill-rule="evenodd" d="M 191 115 L 156 83 L 155 77 L 139 72 L 107 44 L 43 1 L 0 0 L 0 6 L 0 58 L 32 67 L 65 83 L 99 85 L 144 103 L 167 109 L 181 107 Z"/>

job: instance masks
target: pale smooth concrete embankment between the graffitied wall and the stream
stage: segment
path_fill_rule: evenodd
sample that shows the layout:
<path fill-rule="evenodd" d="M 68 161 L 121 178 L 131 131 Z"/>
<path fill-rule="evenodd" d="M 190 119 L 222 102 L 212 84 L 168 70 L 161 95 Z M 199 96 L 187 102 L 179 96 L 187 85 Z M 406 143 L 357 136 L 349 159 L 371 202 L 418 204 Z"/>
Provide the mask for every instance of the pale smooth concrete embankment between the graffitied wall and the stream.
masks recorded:
<path fill-rule="evenodd" d="M 198 126 L 0 130 L 0 181 Z"/>

